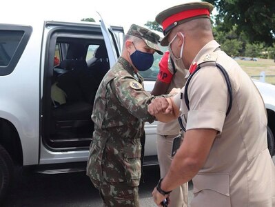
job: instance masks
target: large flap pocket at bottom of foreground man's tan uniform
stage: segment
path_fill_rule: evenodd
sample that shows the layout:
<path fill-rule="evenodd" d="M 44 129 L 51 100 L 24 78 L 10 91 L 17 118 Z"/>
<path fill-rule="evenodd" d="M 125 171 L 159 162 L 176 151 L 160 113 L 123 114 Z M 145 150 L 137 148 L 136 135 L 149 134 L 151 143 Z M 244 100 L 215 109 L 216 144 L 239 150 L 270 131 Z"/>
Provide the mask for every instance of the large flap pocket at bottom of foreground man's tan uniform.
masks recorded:
<path fill-rule="evenodd" d="M 230 175 L 227 173 L 198 173 L 192 181 L 194 185 L 192 207 L 231 207 Z"/>

